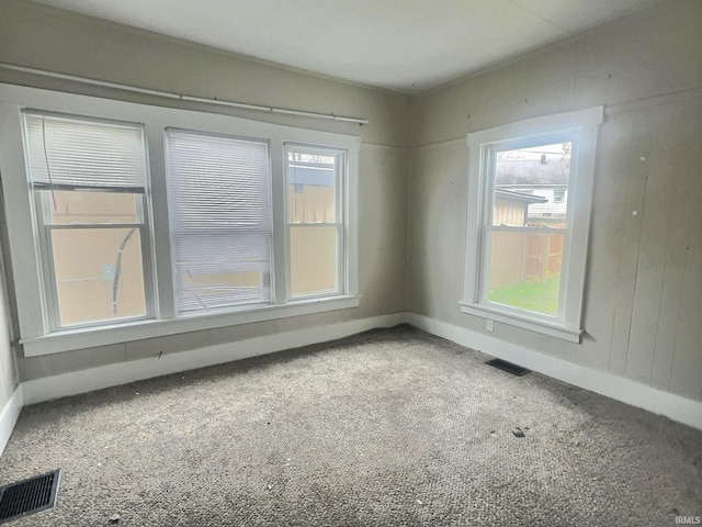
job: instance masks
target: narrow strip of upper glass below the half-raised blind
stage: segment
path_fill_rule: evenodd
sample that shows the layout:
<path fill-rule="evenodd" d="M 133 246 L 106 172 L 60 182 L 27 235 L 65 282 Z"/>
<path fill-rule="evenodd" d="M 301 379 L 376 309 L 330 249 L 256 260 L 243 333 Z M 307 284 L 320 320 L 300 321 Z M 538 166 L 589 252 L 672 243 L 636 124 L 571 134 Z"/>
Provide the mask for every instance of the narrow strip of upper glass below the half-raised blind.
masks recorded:
<path fill-rule="evenodd" d="M 55 225 L 138 223 L 136 200 L 141 194 L 121 192 L 42 191 L 46 223 Z"/>

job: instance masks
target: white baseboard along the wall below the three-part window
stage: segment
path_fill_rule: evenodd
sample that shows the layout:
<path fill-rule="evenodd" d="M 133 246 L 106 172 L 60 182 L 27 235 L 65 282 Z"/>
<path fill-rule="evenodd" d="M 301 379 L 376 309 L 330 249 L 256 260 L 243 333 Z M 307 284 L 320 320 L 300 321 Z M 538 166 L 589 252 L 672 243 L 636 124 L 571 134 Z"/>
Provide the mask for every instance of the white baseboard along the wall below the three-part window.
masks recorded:
<path fill-rule="evenodd" d="M 92 392 L 104 388 L 127 384 L 154 377 L 220 365 L 273 354 L 285 349 L 308 346 L 343 338 L 378 327 L 393 327 L 406 322 L 405 313 L 394 313 L 328 326 L 295 329 L 235 343 L 207 346 L 161 358 L 148 358 L 72 371 L 22 383 L 24 404 L 41 403 L 54 399 Z"/>

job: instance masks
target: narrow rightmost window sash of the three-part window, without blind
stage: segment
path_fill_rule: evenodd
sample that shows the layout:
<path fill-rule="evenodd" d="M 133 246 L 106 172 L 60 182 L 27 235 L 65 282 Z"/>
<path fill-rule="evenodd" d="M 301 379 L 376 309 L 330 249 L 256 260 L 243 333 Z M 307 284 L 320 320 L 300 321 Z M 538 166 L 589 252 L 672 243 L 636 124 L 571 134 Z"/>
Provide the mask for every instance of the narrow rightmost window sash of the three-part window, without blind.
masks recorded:
<path fill-rule="evenodd" d="M 291 298 L 342 292 L 344 155 L 286 146 Z"/>

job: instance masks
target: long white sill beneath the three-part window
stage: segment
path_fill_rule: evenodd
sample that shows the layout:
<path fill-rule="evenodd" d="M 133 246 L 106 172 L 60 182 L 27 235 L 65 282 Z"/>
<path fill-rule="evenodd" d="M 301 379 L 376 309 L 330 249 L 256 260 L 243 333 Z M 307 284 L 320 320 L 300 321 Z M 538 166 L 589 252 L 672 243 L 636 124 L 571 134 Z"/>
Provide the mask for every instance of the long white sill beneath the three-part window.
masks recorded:
<path fill-rule="evenodd" d="M 110 326 L 66 329 L 41 337 L 21 339 L 25 357 L 58 354 L 72 349 L 106 346 L 180 333 L 214 329 L 253 322 L 309 315 L 359 306 L 359 298 L 342 295 L 296 300 L 284 305 L 264 305 L 217 314 L 192 314 L 180 318 L 136 321 Z"/>

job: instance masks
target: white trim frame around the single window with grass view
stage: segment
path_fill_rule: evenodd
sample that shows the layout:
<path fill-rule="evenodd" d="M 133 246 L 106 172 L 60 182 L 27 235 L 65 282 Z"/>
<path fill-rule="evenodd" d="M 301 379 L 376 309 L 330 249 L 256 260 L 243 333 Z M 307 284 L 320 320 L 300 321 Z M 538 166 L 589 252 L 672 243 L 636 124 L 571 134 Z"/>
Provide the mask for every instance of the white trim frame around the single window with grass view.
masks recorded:
<path fill-rule="evenodd" d="M 595 179 L 596 145 L 598 127 L 603 121 L 603 106 L 528 119 L 516 123 L 468 134 L 468 200 L 465 245 L 465 277 L 462 312 L 483 318 L 501 322 L 524 329 L 580 341 L 584 333 L 582 296 L 587 265 L 588 235 Z M 486 255 L 483 247 L 483 221 L 486 181 L 483 177 L 485 156 L 489 145 L 502 142 L 530 141 L 542 135 L 573 130 L 577 133 L 578 158 L 573 192 L 577 199 L 569 210 L 569 247 L 563 265 L 567 266 L 567 281 L 563 284 L 565 302 L 561 319 L 531 314 L 480 301 L 482 272 Z"/>

